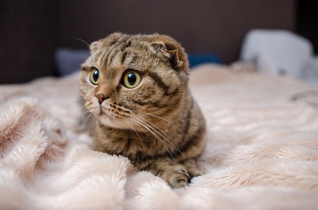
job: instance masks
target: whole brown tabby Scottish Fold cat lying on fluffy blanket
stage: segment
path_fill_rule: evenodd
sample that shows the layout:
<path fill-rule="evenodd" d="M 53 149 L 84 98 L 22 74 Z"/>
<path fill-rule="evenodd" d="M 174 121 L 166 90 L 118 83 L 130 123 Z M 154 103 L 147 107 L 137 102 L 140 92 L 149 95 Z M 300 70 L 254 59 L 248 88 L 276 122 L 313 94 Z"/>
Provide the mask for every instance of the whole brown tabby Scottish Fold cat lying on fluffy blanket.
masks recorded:
<path fill-rule="evenodd" d="M 94 115 L 94 149 L 128 157 L 171 188 L 187 186 L 201 174 L 206 131 L 188 76 L 187 55 L 171 37 L 117 32 L 93 42 L 80 91 Z"/>

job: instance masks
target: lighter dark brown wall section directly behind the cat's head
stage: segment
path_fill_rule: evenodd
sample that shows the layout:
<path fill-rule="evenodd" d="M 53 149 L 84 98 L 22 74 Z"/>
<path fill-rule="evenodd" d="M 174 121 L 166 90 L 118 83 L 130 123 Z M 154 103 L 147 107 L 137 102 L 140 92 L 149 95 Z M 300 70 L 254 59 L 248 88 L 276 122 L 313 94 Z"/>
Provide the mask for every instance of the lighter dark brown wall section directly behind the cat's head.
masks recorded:
<path fill-rule="evenodd" d="M 217 53 L 238 59 L 251 28 L 295 29 L 293 0 L 64 0 L 59 4 L 60 46 L 83 48 L 114 31 L 165 33 L 189 53 Z M 63 40 L 62 40 L 63 39 Z"/>

